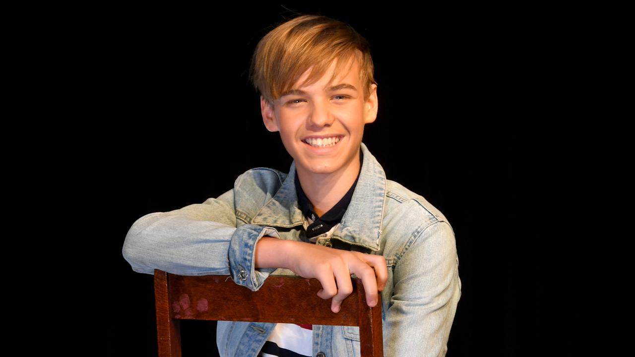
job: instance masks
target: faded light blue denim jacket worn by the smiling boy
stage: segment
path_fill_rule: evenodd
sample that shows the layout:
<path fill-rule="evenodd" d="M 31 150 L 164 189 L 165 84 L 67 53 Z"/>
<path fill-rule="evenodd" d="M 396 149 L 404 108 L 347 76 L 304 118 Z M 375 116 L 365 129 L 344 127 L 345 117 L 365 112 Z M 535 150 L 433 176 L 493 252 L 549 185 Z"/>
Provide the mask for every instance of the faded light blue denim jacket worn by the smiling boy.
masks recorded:
<path fill-rule="evenodd" d="M 450 222 L 422 196 L 385 178 L 363 143 L 363 165 L 351 203 L 331 239 L 384 255 L 384 356 L 445 356 L 461 295 L 458 256 Z M 288 174 L 254 168 L 218 198 L 170 212 L 149 213 L 128 231 L 123 256 L 138 273 L 230 274 L 255 291 L 269 274 L 255 269 L 263 236 L 302 240 L 305 217 L 295 191 L 295 161 Z M 323 244 L 318 241 L 318 244 Z M 275 323 L 218 321 L 220 356 L 257 356 Z M 313 326 L 313 355 L 359 357 L 359 327 Z"/>

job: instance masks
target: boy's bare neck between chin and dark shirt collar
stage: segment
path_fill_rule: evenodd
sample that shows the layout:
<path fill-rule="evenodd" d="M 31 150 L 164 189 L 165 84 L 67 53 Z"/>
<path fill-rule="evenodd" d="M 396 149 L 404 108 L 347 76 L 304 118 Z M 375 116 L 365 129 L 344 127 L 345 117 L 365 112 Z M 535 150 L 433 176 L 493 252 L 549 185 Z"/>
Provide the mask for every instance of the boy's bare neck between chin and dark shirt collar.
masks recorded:
<path fill-rule="evenodd" d="M 333 173 L 311 173 L 298 168 L 298 179 L 313 210 L 322 216 L 335 206 L 351 189 L 359 174 L 359 152 L 345 170 Z"/>

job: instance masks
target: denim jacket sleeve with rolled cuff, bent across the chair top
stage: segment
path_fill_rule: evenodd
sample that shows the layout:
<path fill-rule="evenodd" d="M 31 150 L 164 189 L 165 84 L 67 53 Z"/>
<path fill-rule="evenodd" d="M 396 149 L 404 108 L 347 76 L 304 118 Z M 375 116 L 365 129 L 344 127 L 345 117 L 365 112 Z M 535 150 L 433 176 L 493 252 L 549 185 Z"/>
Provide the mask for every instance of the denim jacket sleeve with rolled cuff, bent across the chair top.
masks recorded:
<path fill-rule="evenodd" d="M 231 275 L 255 291 L 276 270 L 255 269 L 255 246 L 263 236 L 280 236 L 273 227 L 236 226 L 231 189 L 204 203 L 140 217 L 126 234 L 123 257 L 137 273 Z"/>

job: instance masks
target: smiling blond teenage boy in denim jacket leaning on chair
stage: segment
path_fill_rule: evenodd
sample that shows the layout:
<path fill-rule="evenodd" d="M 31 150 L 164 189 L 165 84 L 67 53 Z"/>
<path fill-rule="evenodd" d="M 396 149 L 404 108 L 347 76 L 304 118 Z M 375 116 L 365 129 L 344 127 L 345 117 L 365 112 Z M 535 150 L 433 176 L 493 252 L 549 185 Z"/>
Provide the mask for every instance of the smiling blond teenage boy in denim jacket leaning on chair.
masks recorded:
<path fill-rule="evenodd" d="M 445 355 L 461 294 L 455 237 L 362 143 L 378 105 L 366 40 L 302 15 L 263 37 L 250 77 L 289 173 L 248 170 L 218 198 L 141 217 L 123 246 L 132 269 L 231 274 L 253 291 L 269 274 L 317 278 L 334 313 L 356 274 L 369 306 L 382 294 L 385 356 Z M 218 321 L 217 344 L 221 356 L 359 356 L 359 328 Z"/>

